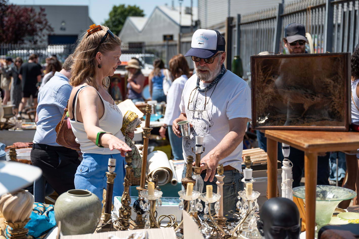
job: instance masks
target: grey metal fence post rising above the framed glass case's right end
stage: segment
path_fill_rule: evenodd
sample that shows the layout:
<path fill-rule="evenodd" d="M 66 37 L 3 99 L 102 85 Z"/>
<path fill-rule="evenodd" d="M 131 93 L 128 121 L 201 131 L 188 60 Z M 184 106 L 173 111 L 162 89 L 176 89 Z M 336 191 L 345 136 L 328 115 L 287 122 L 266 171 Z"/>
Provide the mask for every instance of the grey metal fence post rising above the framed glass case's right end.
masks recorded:
<path fill-rule="evenodd" d="M 338 14 L 338 13 L 337 13 Z M 325 33 L 324 33 L 324 52 L 332 52 L 333 47 L 333 17 L 334 17 L 334 6 L 331 0 L 326 0 L 325 3 Z M 343 22 L 343 15 L 341 15 Z M 342 26 L 340 27 L 342 28 Z"/>

